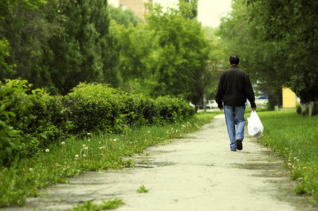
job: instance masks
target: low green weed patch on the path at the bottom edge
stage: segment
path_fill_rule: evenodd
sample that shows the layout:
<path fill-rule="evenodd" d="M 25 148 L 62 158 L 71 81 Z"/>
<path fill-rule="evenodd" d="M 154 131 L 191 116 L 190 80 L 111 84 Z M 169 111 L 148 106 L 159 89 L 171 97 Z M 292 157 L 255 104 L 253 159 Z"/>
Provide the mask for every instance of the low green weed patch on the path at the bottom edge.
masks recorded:
<path fill-rule="evenodd" d="M 117 207 L 120 207 L 120 205 L 123 205 L 125 203 L 122 202 L 122 199 L 115 198 L 114 200 L 108 200 L 103 202 L 101 204 L 93 204 L 91 201 L 86 201 L 82 205 L 77 204 L 76 207 L 73 207 L 73 211 L 99 211 L 99 210 L 113 210 Z"/>

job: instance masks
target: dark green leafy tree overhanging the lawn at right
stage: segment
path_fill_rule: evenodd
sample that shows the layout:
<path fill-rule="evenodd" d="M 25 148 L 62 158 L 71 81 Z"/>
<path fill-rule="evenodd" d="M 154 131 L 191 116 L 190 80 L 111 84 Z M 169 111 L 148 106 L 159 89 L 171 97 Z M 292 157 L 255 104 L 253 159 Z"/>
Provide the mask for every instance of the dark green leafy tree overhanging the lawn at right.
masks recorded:
<path fill-rule="evenodd" d="M 318 56 L 318 2 L 250 0 L 248 8 L 255 35 L 273 49 L 267 56 L 279 68 L 277 78 L 300 96 L 302 104 L 318 108 L 318 74 L 313 67 Z"/>

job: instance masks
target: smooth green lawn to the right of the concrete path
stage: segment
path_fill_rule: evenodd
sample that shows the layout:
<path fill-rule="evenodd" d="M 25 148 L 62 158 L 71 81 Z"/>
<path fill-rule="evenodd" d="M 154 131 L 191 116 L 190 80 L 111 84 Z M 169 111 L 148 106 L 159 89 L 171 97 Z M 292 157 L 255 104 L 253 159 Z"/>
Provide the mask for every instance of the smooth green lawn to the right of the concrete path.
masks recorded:
<path fill-rule="evenodd" d="M 299 181 L 295 192 L 310 194 L 318 203 L 318 116 L 303 117 L 295 110 L 257 114 L 265 128 L 260 141 L 285 156 L 291 179 Z"/>

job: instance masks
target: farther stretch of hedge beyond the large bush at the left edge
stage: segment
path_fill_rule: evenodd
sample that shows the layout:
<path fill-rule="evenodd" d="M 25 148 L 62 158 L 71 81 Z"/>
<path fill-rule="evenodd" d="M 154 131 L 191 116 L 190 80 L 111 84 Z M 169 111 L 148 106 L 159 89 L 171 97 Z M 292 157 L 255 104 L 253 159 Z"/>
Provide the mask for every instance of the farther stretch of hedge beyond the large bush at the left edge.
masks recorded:
<path fill-rule="evenodd" d="M 152 98 L 127 94 L 102 84 L 79 84 L 65 96 L 70 108 L 73 134 L 92 131 L 120 132 L 125 126 L 137 127 L 173 122 L 193 115 L 193 108 L 180 98 Z"/>

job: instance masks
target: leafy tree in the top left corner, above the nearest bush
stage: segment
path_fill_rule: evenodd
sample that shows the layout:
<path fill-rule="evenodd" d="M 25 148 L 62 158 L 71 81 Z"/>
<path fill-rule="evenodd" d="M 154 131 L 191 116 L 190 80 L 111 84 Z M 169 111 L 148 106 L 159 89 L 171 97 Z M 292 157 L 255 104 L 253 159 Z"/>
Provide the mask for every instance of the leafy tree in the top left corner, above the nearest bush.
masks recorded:
<path fill-rule="evenodd" d="M 1 79 L 23 77 L 37 82 L 42 46 L 50 32 L 43 19 L 46 1 L 0 1 Z"/>

